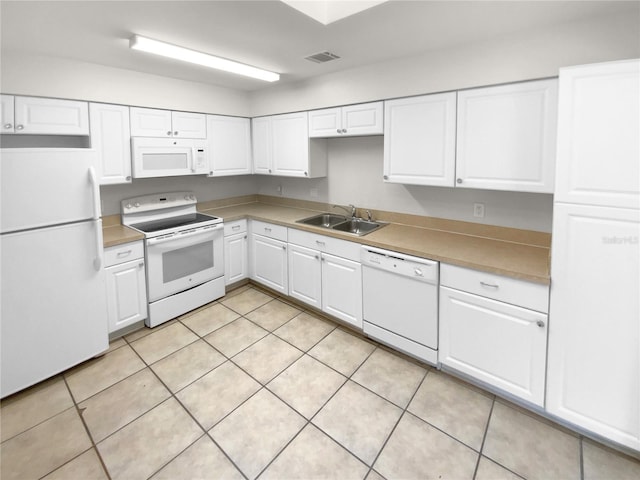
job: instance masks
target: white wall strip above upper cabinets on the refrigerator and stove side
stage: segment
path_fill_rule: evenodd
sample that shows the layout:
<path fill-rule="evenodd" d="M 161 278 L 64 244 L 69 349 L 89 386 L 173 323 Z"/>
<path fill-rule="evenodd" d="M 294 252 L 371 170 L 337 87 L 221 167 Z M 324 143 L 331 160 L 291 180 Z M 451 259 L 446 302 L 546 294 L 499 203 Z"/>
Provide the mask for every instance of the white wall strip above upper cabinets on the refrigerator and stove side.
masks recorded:
<path fill-rule="evenodd" d="M 2 55 L 0 91 L 248 116 L 246 92 L 74 60 Z"/>

